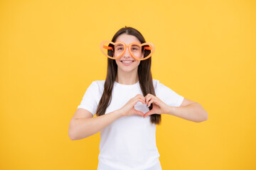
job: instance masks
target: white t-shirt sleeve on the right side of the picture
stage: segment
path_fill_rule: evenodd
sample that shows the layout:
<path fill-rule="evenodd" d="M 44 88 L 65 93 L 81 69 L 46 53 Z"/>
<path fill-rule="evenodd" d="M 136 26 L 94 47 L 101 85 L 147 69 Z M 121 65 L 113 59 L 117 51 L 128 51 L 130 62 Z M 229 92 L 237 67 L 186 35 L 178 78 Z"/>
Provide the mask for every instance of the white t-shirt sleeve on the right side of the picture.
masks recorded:
<path fill-rule="evenodd" d="M 156 81 L 156 97 L 169 106 L 179 107 L 183 102 L 184 97 L 171 90 L 169 87 L 164 86 L 159 81 Z"/>

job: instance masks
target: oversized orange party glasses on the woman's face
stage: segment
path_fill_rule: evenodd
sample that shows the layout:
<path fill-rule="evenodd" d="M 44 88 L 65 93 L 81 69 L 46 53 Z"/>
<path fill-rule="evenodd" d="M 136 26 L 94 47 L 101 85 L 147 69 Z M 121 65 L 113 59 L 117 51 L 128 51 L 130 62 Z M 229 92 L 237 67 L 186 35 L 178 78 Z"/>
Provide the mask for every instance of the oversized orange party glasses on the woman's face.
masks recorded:
<path fill-rule="evenodd" d="M 153 55 L 155 50 L 154 45 L 150 42 L 144 42 L 143 44 L 132 42 L 127 45 L 124 42 L 104 40 L 100 43 L 102 53 L 112 60 L 117 60 L 119 57 L 122 57 L 127 48 L 129 54 L 132 55 L 135 60 L 146 60 Z"/>

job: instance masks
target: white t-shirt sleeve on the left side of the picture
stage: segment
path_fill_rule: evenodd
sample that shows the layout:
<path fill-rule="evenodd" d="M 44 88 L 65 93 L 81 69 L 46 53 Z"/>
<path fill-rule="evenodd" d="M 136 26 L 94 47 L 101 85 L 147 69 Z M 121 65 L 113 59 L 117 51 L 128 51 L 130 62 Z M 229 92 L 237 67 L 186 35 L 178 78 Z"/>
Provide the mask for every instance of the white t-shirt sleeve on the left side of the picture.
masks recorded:
<path fill-rule="evenodd" d="M 92 115 L 95 115 L 97 110 L 97 94 L 98 94 L 98 86 L 95 81 L 90 84 L 90 86 L 85 91 L 84 96 L 82 97 L 82 101 L 78 108 L 84 108 L 87 111 L 90 111 Z"/>

